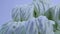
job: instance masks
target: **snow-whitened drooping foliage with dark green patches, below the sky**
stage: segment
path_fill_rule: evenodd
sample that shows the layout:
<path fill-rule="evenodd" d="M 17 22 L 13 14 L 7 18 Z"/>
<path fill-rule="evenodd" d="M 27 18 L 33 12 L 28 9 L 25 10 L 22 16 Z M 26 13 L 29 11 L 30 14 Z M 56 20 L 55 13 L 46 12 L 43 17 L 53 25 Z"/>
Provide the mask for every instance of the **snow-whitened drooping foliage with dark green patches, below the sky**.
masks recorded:
<path fill-rule="evenodd" d="M 60 5 L 50 7 L 49 1 L 33 0 L 32 4 L 13 8 L 12 20 L 0 27 L 0 34 L 56 34 Z"/>

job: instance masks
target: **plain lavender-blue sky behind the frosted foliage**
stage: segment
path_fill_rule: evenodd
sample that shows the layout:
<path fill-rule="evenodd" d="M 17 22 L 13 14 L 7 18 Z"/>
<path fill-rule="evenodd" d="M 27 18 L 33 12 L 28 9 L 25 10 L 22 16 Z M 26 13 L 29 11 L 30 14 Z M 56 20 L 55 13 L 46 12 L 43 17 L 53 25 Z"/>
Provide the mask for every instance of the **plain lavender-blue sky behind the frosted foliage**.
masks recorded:
<path fill-rule="evenodd" d="M 31 3 L 32 0 L 0 0 L 0 25 L 11 20 L 11 11 L 16 5 Z M 60 0 L 53 0 L 51 6 L 60 3 Z"/>

